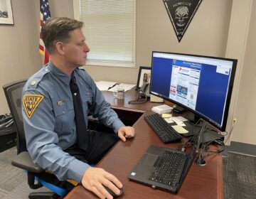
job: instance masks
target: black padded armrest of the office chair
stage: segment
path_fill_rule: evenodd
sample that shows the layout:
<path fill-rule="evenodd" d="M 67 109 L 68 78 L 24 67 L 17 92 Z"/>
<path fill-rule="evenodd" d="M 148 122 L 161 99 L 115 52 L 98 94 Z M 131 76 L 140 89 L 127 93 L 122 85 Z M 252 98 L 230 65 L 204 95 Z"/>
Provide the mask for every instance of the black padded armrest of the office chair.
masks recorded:
<path fill-rule="evenodd" d="M 31 156 L 28 154 L 27 151 L 21 152 L 18 154 L 12 161 L 11 164 L 18 168 L 25 169 L 26 171 L 33 172 L 33 173 L 41 173 L 45 171 L 43 168 L 38 166 L 36 163 L 33 163 Z"/>

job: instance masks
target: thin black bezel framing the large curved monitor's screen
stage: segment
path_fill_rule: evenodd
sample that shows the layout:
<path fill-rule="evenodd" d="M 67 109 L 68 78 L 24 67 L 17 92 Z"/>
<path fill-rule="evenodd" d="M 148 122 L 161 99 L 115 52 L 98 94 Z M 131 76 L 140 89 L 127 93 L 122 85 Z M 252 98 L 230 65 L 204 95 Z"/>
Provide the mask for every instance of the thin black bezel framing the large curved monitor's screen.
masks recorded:
<path fill-rule="evenodd" d="M 186 107 L 185 105 L 183 105 L 181 103 L 178 103 L 175 100 L 170 99 L 169 97 L 165 97 L 163 95 L 160 95 L 159 93 L 158 94 L 156 94 L 155 92 L 153 93 L 151 91 L 152 81 L 150 81 L 150 88 L 149 88 L 149 93 L 151 95 L 156 95 L 157 97 L 161 97 L 161 98 L 163 98 L 163 99 L 165 99 L 169 102 L 177 104 L 178 106 L 181 106 L 184 109 L 187 109 L 188 111 L 192 112 L 193 114 L 197 115 L 198 117 L 201 117 L 206 122 L 212 124 L 214 127 L 219 129 L 220 131 L 225 131 L 225 128 L 226 128 L 227 122 L 228 122 L 228 112 L 229 112 L 229 108 L 230 108 L 230 101 L 231 101 L 232 92 L 233 92 L 233 86 L 234 86 L 234 81 L 235 81 L 235 71 L 236 71 L 236 68 L 237 68 L 238 60 L 233 59 L 233 58 L 221 58 L 221 57 L 213 57 L 213 56 L 208 56 L 208 55 L 196 55 L 196 54 L 186 54 L 186 53 L 171 53 L 171 52 L 162 52 L 162 51 L 152 51 L 152 55 L 151 55 L 151 78 L 152 78 L 152 72 L 153 72 L 152 67 L 153 67 L 153 55 L 154 55 L 154 53 L 165 53 L 165 54 L 172 54 L 172 55 L 185 55 L 185 56 L 198 57 L 198 58 L 211 58 L 211 59 L 216 59 L 216 60 L 228 60 L 228 61 L 233 62 L 233 66 L 232 66 L 231 74 L 230 74 L 230 82 L 229 82 L 229 85 L 228 85 L 228 95 L 227 95 L 224 114 L 223 114 L 223 125 L 222 126 L 220 126 L 219 124 L 216 124 L 214 121 L 211 121 L 208 117 L 205 117 L 203 114 L 200 114 L 200 113 L 196 112 L 196 110 L 193 110 L 189 107 Z"/>

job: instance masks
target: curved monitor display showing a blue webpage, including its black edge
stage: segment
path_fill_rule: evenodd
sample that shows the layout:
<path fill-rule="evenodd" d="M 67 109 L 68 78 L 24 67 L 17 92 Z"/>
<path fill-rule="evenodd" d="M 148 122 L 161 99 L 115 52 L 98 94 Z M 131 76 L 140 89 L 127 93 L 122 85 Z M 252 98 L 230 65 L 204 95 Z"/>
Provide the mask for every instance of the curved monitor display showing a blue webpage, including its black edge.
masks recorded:
<path fill-rule="evenodd" d="M 237 60 L 153 52 L 150 92 L 225 131 Z"/>

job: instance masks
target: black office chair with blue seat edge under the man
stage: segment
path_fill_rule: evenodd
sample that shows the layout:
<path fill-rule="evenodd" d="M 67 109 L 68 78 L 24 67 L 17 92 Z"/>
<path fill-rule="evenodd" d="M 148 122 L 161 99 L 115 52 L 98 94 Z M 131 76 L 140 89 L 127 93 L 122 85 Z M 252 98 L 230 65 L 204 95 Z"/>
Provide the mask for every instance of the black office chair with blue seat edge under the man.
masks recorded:
<path fill-rule="evenodd" d="M 42 181 L 40 178 L 36 177 L 36 173 L 41 173 L 45 171 L 36 163 L 33 163 L 31 156 L 28 154 L 28 151 L 26 149 L 26 138 L 23 128 L 23 118 L 21 112 L 21 95 L 23 86 L 25 84 L 26 80 L 19 80 L 3 86 L 4 94 L 6 95 L 6 100 L 17 128 L 16 146 L 18 155 L 16 156 L 16 158 L 14 158 L 11 164 L 18 168 L 23 168 L 24 170 L 26 170 L 26 173 L 28 174 L 28 185 L 30 188 L 37 189 L 41 188 L 42 186 L 45 186 L 46 188 L 53 191 L 53 193 L 31 193 L 30 195 L 28 195 L 28 198 L 60 198 L 65 196 L 68 193 L 68 191 L 63 188 L 59 188 L 53 184 L 47 183 L 46 181 Z M 35 180 L 38 181 L 38 183 L 35 183 Z"/>

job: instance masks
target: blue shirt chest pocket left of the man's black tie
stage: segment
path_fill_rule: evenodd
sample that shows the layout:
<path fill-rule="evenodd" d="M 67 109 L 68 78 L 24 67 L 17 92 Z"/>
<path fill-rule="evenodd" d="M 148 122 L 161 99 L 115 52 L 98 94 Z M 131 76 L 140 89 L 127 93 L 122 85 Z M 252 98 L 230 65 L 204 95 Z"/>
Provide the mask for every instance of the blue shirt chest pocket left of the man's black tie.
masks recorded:
<path fill-rule="evenodd" d="M 73 102 L 70 100 L 57 102 L 53 109 L 55 114 L 55 132 L 60 135 L 74 131 L 75 113 Z"/>

